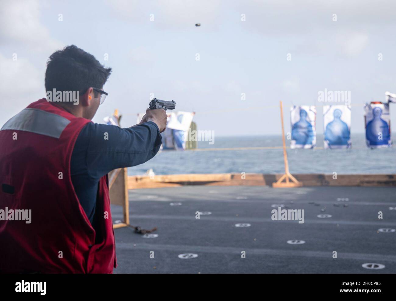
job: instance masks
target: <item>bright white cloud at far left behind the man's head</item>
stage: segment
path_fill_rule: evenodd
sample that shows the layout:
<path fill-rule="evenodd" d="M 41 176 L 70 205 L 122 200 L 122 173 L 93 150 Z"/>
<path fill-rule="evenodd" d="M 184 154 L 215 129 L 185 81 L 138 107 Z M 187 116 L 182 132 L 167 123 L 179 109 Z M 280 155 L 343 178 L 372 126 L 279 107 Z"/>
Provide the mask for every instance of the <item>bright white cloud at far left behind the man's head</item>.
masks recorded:
<path fill-rule="evenodd" d="M 45 59 L 61 48 L 40 20 L 40 4 L 36 0 L 1 1 L 1 125 L 29 103 L 45 97 Z"/>

